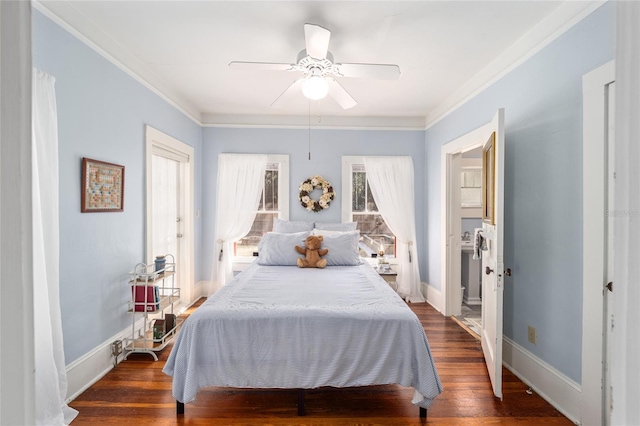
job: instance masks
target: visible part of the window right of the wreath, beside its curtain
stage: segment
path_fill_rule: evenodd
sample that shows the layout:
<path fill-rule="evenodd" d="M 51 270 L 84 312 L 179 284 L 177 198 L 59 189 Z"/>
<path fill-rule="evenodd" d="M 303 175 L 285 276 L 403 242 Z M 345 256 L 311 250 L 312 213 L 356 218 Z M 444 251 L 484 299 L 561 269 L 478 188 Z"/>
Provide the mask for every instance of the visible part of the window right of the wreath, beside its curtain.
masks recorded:
<path fill-rule="evenodd" d="M 385 256 L 395 257 L 396 237 L 378 212 L 362 159 L 344 157 L 342 192 L 342 220 L 357 222 L 361 236 L 360 256 L 371 257 L 382 247 Z"/>

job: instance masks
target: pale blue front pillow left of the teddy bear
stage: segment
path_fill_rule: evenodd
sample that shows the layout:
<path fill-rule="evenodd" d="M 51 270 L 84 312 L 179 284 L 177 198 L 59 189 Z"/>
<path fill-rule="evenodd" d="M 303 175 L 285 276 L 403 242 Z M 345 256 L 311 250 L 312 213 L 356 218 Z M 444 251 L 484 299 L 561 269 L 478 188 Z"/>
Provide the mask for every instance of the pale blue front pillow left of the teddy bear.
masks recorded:
<path fill-rule="evenodd" d="M 309 232 L 267 232 L 258 244 L 258 265 L 296 266 L 300 255 L 295 246 L 304 247 Z"/>

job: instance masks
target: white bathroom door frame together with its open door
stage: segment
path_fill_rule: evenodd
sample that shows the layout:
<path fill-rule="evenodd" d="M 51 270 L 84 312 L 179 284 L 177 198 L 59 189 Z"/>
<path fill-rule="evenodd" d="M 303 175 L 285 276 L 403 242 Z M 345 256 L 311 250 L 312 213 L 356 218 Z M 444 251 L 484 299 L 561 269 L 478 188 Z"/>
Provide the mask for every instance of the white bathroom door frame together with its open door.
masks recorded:
<path fill-rule="evenodd" d="M 482 322 L 480 341 L 493 393 L 502 399 L 502 325 L 504 277 L 504 109 L 491 122 L 442 146 L 442 277 L 447 316 L 460 315 L 460 159 L 482 147 Z"/>

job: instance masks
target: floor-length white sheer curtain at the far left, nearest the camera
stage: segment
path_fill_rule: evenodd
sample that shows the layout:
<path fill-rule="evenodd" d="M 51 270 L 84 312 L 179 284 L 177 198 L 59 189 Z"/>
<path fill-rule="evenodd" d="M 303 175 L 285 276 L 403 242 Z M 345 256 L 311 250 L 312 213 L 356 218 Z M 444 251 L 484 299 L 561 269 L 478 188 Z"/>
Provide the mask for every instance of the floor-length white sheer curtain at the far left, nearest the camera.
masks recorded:
<path fill-rule="evenodd" d="M 59 292 L 58 113 L 55 79 L 33 71 L 33 294 L 36 351 L 36 421 L 69 424 L 67 373 Z"/>

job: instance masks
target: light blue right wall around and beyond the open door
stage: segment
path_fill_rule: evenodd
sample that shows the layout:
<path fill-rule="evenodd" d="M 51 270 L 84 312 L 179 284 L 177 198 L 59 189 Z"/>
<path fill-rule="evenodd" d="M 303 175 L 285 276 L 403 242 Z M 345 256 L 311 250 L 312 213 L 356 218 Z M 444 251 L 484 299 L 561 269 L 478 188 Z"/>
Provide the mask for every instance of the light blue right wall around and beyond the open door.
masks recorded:
<path fill-rule="evenodd" d="M 504 333 L 580 382 L 582 76 L 614 57 L 608 2 L 426 132 L 428 282 L 440 288 L 440 148 L 505 108 Z M 538 344 L 527 341 L 537 328 Z"/>

